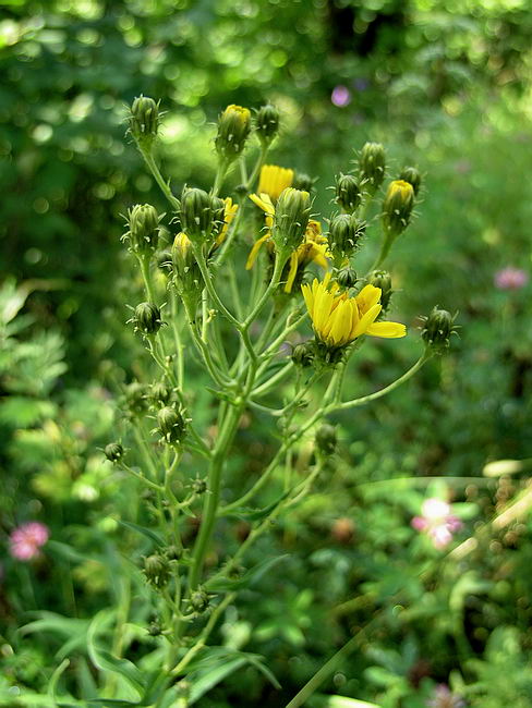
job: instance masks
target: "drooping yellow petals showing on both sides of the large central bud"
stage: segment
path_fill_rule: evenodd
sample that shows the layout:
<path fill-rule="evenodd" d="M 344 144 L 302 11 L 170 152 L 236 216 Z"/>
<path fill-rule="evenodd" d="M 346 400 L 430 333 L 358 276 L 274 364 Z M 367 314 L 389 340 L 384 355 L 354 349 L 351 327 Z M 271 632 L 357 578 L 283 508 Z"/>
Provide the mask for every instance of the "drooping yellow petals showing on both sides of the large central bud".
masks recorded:
<path fill-rule="evenodd" d="M 253 245 L 253 248 L 250 252 L 247 261 L 245 264 L 246 270 L 253 268 L 253 265 L 257 258 L 258 251 L 263 243 L 267 243 L 273 246 L 271 239 L 271 227 L 274 225 L 275 217 L 275 207 L 271 203 L 271 199 L 266 193 L 262 193 L 261 196 L 256 194 L 250 194 L 250 199 L 257 205 L 259 209 L 264 211 L 264 220 L 266 223 L 266 233 L 257 239 Z M 330 254 L 327 248 L 327 239 L 322 235 L 322 225 L 319 221 L 309 221 L 306 227 L 305 239 L 303 243 L 298 246 L 298 248 L 290 256 L 290 268 L 288 272 L 287 283 L 285 285 L 285 292 L 290 293 L 292 291 L 293 281 L 298 274 L 298 268 L 300 266 L 306 266 L 306 264 L 314 261 L 322 268 L 327 268 L 327 257 Z"/>

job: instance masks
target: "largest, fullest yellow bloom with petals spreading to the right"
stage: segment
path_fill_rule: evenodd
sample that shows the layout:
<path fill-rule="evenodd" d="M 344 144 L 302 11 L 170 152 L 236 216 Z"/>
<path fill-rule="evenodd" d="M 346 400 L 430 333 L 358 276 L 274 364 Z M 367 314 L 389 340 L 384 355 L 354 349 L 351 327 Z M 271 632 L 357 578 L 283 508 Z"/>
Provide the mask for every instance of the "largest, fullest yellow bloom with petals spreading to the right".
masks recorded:
<path fill-rule="evenodd" d="M 382 305 L 380 288 L 366 285 L 355 297 L 338 293 L 338 283 L 329 289 L 330 273 L 312 285 L 302 285 L 306 309 L 318 339 L 329 346 L 344 346 L 362 334 L 404 337 L 407 328 L 399 322 L 376 322 Z"/>

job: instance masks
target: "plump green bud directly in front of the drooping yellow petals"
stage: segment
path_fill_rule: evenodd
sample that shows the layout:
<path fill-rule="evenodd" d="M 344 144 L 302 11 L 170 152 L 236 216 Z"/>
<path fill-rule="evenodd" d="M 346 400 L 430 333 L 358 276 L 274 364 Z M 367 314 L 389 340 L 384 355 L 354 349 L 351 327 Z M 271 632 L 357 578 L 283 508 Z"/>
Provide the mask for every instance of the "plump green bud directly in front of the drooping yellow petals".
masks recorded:
<path fill-rule="evenodd" d="M 278 253 L 290 254 L 301 245 L 311 215 L 309 192 L 287 187 L 277 200 L 271 237 Z"/>

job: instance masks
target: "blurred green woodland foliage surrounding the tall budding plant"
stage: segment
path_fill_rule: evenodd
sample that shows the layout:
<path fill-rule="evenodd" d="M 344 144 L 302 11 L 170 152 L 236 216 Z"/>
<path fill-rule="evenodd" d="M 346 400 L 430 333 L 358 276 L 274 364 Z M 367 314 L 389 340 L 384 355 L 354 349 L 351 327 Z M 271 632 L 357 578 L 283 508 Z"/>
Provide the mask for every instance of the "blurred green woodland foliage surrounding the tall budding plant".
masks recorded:
<path fill-rule="evenodd" d="M 226 632 L 266 656 L 281 697 L 250 670 L 202 705 L 246 706 L 253 696 L 253 705 L 283 706 L 353 626 L 378 618 L 329 693 L 419 708 L 436 684 L 452 683 L 468 705 L 532 706 L 530 522 L 521 514 L 501 529 L 488 525 L 525 493 L 530 469 L 531 33 L 527 0 L 1 3 L 4 548 L 23 521 L 52 530 L 47 562 L 5 553 L 5 689 L 43 691 L 56 666 L 59 630 L 16 631 L 28 611 L 86 619 L 119 591 L 105 567 L 122 562 L 116 518 L 128 503 L 97 447 L 112 437 L 109 362 L 129 374 L 138 366 L 123 327 L 138 283 L 121 215 L 137 202 L 166 209 L 124 138 L 124 107 L 144 94 L 167 112 L 160 155 L 176 191 L 211 183 L 211 138 L 227 103 L 279 107 L 270 159 L 318 178 L 323 217 L 334 210 L 326 187 L 366 139 L 386 146 L 390 178 L 403 164 L 420 168 L 419 218 L 392 261 L 394 318 L 413 335 L 399 349 L 365 347 L 353 394 L 409 365 L 418 316 L 434 304 L 458 310 L 461 326 L 452 352 L 408 388 L 339 419 L 327 490 L 256 550 L 257 560 L 290 558 L 218 640 Z M 518 284 L 500 281 L 506 268 L 519 269 Z M 252 429 L 242 431 L 235 478 L 269 454 L 271 441 L 252 439 Z M 483 476 L 500 459 L 524 462 L 512 476 Z M 420 484 L 370 484 L 396 477 Z M 440 554 L 409 525 L 439 493 L 432 477 L 447 478 L 437 484 L 463 505 L 463 538 L 480 534 L 476 550 L 442 573 L 431 570 Z M 89 694 L 80 651 L 69 681 Z"/>

